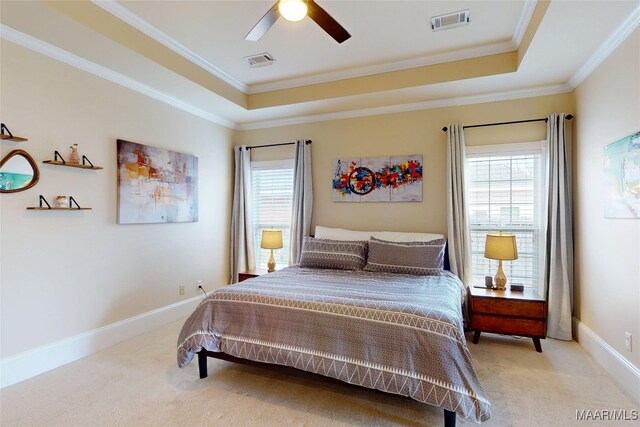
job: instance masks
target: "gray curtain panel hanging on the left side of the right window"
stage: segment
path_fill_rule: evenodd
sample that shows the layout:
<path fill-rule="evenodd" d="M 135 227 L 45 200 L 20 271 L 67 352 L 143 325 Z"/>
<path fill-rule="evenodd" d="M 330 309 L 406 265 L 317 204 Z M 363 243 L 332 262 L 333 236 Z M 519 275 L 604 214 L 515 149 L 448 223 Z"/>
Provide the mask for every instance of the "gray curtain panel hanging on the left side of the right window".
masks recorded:
<path fill-rule="evenodd" d="M 471 237 L 464 178 L 464 126 L 449 125 L 447 135 L 447 242 L 449 268 L 462 283 L 471 281 Z"/>

